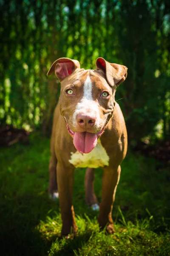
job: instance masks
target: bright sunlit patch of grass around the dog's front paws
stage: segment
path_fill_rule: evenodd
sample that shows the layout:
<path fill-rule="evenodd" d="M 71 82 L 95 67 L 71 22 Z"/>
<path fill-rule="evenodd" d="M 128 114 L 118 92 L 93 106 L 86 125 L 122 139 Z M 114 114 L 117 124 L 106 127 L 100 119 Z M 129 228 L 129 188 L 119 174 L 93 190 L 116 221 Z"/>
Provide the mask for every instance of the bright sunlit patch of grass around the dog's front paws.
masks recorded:
<path fill-rule="evenodd" d="M 46 221 L 40 221 L 37 226 L 42 239 L 51 241 L 49 256 L 54 255 L 161 255 L 161 247 L 168 255 L 170 249 L 170 236 L 156 234 L 150 230 L 151 218 L 143 221 L 136 220 L 136 224 L 125 221 L 121 212 L 120 222 L 115 225 L 115 233 L 106 235 L 105 230 L 99 232 L 96 218 L 91 220 L 88 216 L 77 216 L 79 231 L 74 239 L 59 239 L 61 231 L 60 215 Z M 73 253 L 74 254 L 71 254 Z M 57 253 L 57 254 L 56 254 Z"/>

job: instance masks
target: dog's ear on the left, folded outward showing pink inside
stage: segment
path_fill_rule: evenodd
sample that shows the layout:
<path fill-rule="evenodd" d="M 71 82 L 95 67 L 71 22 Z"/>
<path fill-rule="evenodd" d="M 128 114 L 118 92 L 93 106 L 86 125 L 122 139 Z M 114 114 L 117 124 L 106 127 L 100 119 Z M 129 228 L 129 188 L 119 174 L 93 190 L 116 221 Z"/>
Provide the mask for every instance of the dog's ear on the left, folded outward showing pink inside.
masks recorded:
<path fill-rule="evenodd" d="M 59 81 L 65 79 L 66 76 L 71 75 L 74 70 L 80 68 L 79 61 L 69 58 L 59 58 L 54 61 L 51 68 L 48 70 L 47 76 L 50 76 L 54 71 Z"/>

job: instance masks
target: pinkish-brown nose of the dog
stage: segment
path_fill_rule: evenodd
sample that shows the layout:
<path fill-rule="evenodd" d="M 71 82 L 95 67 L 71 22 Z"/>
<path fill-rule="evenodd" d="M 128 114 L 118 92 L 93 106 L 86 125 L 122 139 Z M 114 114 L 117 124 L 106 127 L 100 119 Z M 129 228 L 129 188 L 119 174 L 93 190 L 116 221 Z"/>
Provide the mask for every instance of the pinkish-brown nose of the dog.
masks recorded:
<path fill-rule="evenodd" d="M 96 122 L 96 117 L 95 116 L 88 116 L 85 114 L 78 114 L 77 115 L 77 123 L 81 128 L 91 128 L 94 126 Z"/>

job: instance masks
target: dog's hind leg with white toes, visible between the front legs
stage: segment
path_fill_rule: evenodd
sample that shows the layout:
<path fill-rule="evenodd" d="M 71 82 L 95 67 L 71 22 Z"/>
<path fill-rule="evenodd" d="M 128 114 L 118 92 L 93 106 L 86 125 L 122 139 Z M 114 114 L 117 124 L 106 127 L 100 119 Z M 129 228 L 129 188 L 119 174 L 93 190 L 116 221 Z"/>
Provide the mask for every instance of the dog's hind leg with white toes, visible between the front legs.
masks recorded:
<path fill-rule="evenodd" d="M 85 173 L 85 201 L 94 211 L 99 210 L 98 201 L 94 193 L 94 168 L 87 168 Z"/>

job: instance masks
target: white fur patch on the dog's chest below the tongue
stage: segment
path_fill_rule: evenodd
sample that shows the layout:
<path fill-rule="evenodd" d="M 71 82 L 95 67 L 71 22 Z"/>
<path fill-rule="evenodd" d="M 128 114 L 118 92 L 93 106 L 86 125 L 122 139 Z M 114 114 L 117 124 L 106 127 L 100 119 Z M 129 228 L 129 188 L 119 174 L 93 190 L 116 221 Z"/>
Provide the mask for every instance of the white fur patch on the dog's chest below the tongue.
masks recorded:
<path fill-rule="evenodd" d="M 79 153 L 79 151 L 71 153 L 71 159 L 69 162 L 75 167 L 98 168 L 108 166 L 109 157 L 105 151 L 105 148 L 102 147 L 100 140 L 98 140 L 96 147 L 88 154 L 82 154 Z"/>

